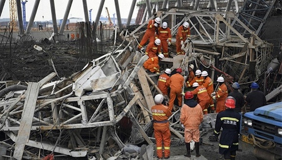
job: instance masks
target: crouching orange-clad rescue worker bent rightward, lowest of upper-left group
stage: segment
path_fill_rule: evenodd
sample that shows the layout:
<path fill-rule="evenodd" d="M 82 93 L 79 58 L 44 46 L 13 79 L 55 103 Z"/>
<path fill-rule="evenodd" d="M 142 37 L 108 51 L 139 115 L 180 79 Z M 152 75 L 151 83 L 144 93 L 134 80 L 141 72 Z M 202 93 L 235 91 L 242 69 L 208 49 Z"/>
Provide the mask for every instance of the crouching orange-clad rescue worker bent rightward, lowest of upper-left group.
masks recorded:
<path fill-rule="evenodd" d="M 159 61 L 164 59 L 163 54 L 159 54 L 158 57 L 149 58 L 144 62 L 143 67 L 150 70 L 152 73 L 159 74 Z"/>

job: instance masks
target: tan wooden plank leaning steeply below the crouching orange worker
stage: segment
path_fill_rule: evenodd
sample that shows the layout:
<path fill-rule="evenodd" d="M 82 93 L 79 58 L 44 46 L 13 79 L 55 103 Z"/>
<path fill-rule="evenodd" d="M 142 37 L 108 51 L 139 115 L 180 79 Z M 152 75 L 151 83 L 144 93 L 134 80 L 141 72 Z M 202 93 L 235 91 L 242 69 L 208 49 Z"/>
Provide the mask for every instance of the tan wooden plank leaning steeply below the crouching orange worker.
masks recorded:
<path fill-rule="evenodd" d="M 148 105 L 149 111 L 151 112 L 151 109 L 153 106 L 155 106 L 155 101 L 152 95 L 152 92 L 149 87 L 148 80 L 146 79 L 147 73 L 144 71 L 143 68 L 140 68 L 138 71 L 138 78 L 140 80 L 141 88 L 146 100 L 146 103 Z"/>

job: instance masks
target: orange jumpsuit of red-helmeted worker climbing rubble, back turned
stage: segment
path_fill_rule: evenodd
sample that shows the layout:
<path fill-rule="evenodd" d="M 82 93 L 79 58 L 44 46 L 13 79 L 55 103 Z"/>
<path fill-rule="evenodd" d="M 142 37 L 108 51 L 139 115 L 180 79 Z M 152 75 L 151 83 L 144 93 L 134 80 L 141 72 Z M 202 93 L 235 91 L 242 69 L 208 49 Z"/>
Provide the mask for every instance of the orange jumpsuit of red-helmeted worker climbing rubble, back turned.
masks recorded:
<path fill-rule="evenodd" d="M 168 80 L 168 85 L 170 87 L 170 100 L 168 102 L 168 107 L 172 111 L 174 106 L 174 100 L 177 96 L 178 105 L 181 106 L 182 104 L 182 87 L 184 85 L 184 78 L 179 73 L 176 73 L 170 77 Z"/>

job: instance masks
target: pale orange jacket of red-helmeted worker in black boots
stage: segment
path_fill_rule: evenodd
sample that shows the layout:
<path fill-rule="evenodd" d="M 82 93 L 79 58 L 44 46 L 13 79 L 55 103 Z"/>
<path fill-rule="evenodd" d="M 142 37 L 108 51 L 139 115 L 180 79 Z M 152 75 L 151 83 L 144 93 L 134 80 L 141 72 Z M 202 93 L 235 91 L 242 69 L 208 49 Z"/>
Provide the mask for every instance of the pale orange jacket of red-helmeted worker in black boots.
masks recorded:
<path fill-rule="evenodd" d="M 183 104 L 180 112 L 180 122 L 188 129 L 198 129 L 203 121 L 203 111 L 199 104 L 189 107 Z"/>

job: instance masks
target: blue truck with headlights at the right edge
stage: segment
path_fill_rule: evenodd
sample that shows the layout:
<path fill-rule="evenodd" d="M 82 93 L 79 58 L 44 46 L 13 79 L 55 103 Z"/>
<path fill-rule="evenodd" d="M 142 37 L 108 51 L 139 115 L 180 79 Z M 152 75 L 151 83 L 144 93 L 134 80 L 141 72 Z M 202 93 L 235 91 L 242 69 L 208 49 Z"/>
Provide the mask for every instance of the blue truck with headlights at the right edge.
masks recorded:
<path fill-rule="evenodd" d="M 240 134 L 258 160 L 282 160 L 282 102 L 245 113 Z"/>

